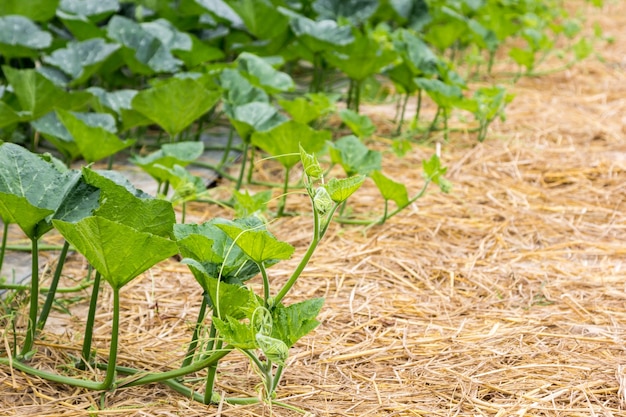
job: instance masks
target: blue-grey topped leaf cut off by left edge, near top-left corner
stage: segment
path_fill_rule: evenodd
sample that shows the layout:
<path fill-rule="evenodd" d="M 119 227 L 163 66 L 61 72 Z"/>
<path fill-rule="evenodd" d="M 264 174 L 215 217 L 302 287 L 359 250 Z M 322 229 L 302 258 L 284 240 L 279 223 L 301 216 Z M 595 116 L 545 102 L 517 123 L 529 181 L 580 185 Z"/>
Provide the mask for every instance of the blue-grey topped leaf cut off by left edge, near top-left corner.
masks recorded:
<path fill-rule="evenodd" d="M 2 7 L 2 6 L 0 6 Z M 7 57 L 36 57 L 52 43 L 52 35 L 24 16 L 0 17 L 0 53 Z"/>

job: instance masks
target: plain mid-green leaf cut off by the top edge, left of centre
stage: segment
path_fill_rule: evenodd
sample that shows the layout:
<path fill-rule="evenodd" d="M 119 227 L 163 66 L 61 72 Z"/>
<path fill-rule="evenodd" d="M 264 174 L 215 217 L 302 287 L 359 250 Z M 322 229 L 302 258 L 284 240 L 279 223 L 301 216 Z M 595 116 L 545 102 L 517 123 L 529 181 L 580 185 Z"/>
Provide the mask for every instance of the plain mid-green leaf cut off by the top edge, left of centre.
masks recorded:
<path fill-rule="evenodd" d="M 283 34 L 289 19 L 268 0 L 227 0 L 241 17 L 246 29 L 259 39 L 273 39 Z"/>

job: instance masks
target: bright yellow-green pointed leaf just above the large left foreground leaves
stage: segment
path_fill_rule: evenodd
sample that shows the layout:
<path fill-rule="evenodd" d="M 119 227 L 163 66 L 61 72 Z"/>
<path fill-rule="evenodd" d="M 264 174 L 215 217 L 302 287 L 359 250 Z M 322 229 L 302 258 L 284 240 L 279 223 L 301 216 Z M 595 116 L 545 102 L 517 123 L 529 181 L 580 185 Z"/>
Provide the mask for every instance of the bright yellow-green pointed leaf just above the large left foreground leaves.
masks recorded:
<path fill-rule="evenodd" d="M 135 142 L 134 140 L 120 140 L 116 134 L 101 126 L 90 126 L 68 111 L 57 109 L 57 116 L 87 162 L 107 158 Z"/>

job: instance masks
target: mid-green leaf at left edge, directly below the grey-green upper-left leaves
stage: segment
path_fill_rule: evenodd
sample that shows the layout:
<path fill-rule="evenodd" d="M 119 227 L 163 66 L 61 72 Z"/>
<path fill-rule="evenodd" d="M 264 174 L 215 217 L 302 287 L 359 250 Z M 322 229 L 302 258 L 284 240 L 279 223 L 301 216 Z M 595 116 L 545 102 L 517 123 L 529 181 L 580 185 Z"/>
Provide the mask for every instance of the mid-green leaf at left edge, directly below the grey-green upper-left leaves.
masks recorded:
<path fill-rule="evenodd" d="M 54 107 L 78 110 L 91 99 L 91 94 L 87 92 L 66 92 L 33 69 L 17 70 L 3 66 L 2 70 L 25 112 L 23 117 L 28 120 L 38 119 Z"/>

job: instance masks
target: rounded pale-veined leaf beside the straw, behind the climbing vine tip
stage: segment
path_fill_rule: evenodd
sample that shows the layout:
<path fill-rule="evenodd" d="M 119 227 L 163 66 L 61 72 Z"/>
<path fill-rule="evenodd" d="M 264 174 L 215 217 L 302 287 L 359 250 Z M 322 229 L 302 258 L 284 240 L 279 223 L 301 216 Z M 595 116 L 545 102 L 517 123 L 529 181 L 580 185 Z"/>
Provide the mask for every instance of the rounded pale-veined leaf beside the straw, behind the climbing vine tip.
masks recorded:
<path fill-rule="evenodd" d="M 354 135 L 344 136 L 330 145 L 330 158 L 340 164 L 348 176 L 355 174 L 369 175 L 381 169 L 382 155 L 372 151 Z"/>

